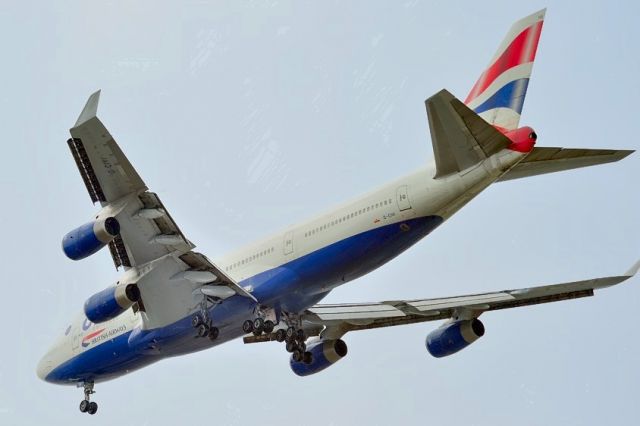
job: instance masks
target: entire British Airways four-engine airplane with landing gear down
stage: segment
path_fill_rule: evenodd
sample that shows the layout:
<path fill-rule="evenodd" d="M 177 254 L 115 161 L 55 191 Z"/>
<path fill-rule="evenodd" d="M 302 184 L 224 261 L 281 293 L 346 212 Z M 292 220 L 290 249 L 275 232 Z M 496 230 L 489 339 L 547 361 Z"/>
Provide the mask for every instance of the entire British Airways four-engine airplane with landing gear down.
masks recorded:
<path fill-rule="evenodd" d="M 386 264 L 495 182 L 619 161 L 634 151 L 536 146 L 519 127 L 546 9 L 515 22 L 460 101 L 441 90 L 425 101 L 434 161 L 306 222 L 209 259 L 180 231 L 97 117 L 92 94 L 67 141 L 91 201 L 101 209 L 63 237 L 81 260 L 105 246 L 123 274 L 86 299 L 43 356 L 41 379 L 82 387 L 95 414 L 96 383 L 167 357 L 243 337 L 280 342 L 298 376 L 347 355 L 346 333 L 444 321 L 426 337 L 434 357 L 484 335 L 488 311 L 593 296 L 636 274 L 482 294 L 320 304 L 333 289 Z"/>

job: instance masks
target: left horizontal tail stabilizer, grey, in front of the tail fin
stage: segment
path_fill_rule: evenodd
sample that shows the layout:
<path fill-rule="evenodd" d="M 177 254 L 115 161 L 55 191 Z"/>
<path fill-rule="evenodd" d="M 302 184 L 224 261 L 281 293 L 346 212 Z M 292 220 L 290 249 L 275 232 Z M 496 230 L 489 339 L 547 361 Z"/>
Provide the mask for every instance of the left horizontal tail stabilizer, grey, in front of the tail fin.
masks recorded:
<path fill-rule="evenodd" d="M 435 178 L 458 173 L 506 148 L 510 140 L 446 90 L 425 101 Z"/>

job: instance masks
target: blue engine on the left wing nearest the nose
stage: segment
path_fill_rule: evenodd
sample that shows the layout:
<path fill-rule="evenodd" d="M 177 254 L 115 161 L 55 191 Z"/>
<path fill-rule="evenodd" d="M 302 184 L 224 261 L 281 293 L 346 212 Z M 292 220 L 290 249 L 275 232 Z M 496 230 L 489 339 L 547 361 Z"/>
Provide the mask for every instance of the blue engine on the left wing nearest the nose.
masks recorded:
<path fill-rule="evenodd" d="M 109 287 L 94 294 L 84 302 L 84 314 L 93 323 L 113 319 L 140 300 L 137 284 Z"/>

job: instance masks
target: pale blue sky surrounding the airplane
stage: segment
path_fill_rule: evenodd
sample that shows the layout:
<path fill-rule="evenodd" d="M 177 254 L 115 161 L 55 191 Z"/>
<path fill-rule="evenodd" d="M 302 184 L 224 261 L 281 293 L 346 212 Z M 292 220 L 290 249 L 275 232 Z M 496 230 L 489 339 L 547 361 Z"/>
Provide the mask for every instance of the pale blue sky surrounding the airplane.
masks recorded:
<path fill-rule="evenodd" d="M 421 167 L 423 101 L 464 97 L 516 19 L 548 6 L 524 106 L 540 146 L 638 148 L 637 2 L 5 1 L 0 4 L 4 259 L 0 424 L 633 424 L 640 280 L 483 316 L 431 358 L 437 324 L 348 334 L 298 378 L 280 345 L 241 341 L 81 391 L 35 365 L 107 252 L 60 239 L 92 207 L 66 146 L 87 96 L 184 233 L 211 257 Z M 618 274 L 640 256 L 640 155 L 495 185 L 327 301 L 423 298 Z"/>

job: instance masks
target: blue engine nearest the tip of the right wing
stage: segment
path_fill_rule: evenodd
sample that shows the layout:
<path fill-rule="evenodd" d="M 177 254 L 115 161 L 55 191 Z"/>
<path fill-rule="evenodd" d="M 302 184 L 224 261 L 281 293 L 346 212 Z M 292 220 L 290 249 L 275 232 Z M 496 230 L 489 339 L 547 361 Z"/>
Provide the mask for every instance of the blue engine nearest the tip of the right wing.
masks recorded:
<path fill-rule="evenodd" d="M 436 358 L 452 355 L 484 335 L 479 319 L 444 324 L 427 335 L 427 350 Z"/>

